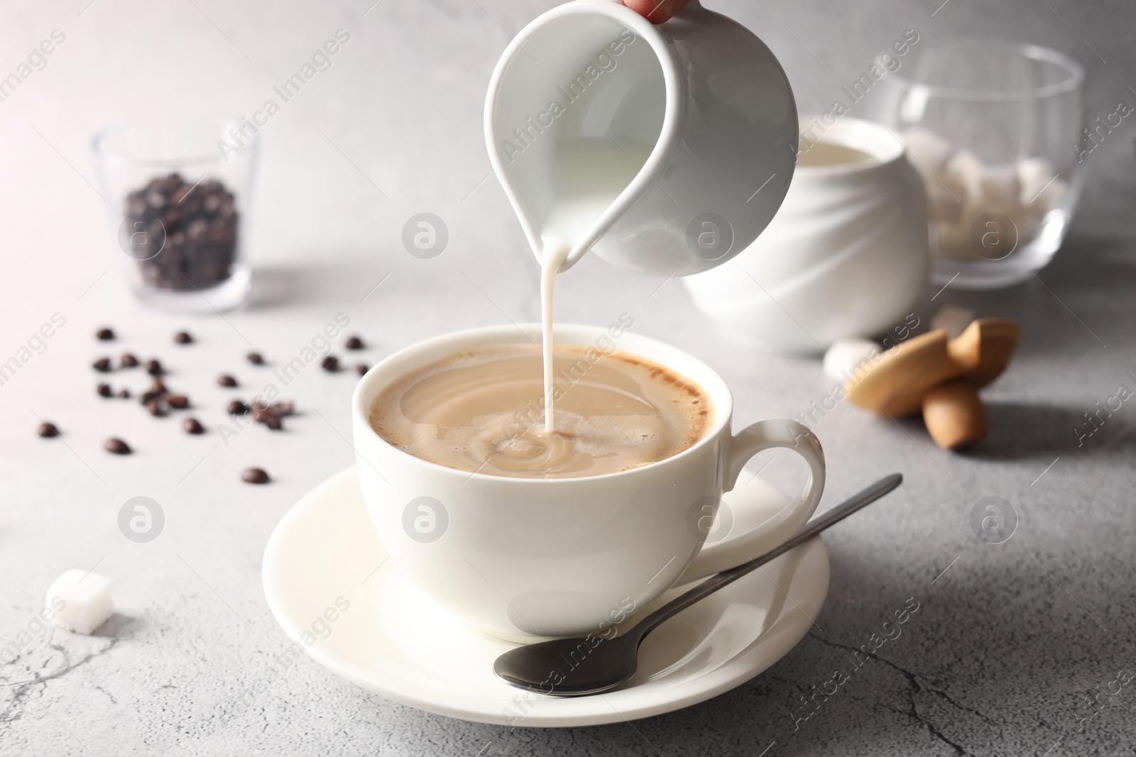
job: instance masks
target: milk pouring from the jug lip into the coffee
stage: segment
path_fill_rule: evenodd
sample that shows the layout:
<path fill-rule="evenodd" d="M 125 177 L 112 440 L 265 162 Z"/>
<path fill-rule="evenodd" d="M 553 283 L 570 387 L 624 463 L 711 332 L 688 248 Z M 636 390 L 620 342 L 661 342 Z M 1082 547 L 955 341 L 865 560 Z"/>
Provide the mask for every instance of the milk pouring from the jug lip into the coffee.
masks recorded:
<path fill-rule="evenodd" d="M 553 423 L 552 291 L 557 271 L 576 243 L 611 207 L 646 160 L 650 150 L 624 150 L 610 141 L 561 148 L 552 171 L 553 200 L 541 225 L 541 330 L 544 356 L 544 432 Z M 634 157 L 633 157 L 634 155 Z"/>

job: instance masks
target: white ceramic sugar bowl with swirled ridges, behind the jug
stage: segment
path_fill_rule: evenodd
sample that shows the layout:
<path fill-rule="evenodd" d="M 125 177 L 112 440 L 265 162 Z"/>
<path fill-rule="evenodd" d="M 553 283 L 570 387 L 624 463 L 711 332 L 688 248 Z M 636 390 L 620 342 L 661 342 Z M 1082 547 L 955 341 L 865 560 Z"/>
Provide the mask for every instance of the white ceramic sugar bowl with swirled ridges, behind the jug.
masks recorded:
<path fill-rule="evenodd" d="M 929 263 L 924 188 L 903 144 L 877 124 L 818 118 L 765 233 L 683 281 L 699 310 L 755 347 L 816 353 L 903 322 Z"/>

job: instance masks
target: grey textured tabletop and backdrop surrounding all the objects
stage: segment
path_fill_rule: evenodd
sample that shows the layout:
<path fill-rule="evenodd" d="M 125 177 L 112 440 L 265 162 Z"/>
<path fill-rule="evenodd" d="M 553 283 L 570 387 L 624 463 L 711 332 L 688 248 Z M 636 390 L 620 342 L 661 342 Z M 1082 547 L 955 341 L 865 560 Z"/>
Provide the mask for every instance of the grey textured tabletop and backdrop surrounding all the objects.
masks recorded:
<path fill-rule="evenodd" d="M 1136 410 L 1125 402 L 1083 444 L 1077 431 L 1119 385 L 1136 388 L 1127 121 L 1094 151 L 1071 236 L 1039 280 L 925 297 L 924 319 L 932 304 L 953 303 L 1024 325 L 1018 359 L 986 393 L 986 441 L 947 454 L 916 422 L 880 422 L 845 406 L 817 427 L 832 471 L 828 503 L 892 470 L 907 483 L 826 537 L 833 578 L 824 612 L 762 675 L 661 717 L 536 731 L 395 705 L 304 658 L 244 706 L 243 693 L 266 680 L 287 642 L 260 589 L 262 547 L 300 495 L 350 464 L 343 436 L 353 375 L 309 369 L 289 387 L 303 414 L 285 434 L 253 428 L 225 444 L 215 429 L 233 392 L 214 384 L 216 373 L 256 385 L 260 375 L 242 359 L 250 344 L 270 360 L 292 355 L 337 312 L 369 342 L 368 362 L 431 335 L 537 316 L 536 268 L 487 177 L 479 118 L 507 35 L 549 3 L 370 2 L 99 0 L 84 8 L 76 0 L 0 11 L 0 72 L 15 69 L 51 30 L 67 35 L 47 67 L 0 102 L 0 359 L 52 313 L 66 318 L 45 351 L 0 386 L 0 647 L 18 642 L 15 658 L 0 661 L 0 754 L 1131 752 L 1136 687 L 1113 693 L 1110 682 L 1136 668 Z M 1136 62 L 1136 15 L 1118 3 L 710 5 L 768 41 L 807 110 L 827 107 L 905 28 L 1067 50 L 1089 70 L 1091 117 L 1136 101 L 1125 78 Z M 114 270 L 105 210 L 87 185 L 89 135 L 123 115 L 250 113 L 340 27 L 352 36 L 334 66 L 265 132 L 250 237 L 253 306 L 225 319 L 140 309 Z M 398 241 L 404 220 L 423 210 L 451 229 L 450 247 L 434 261 L 410 258 Z M 720 370 L 740 422 L 794 417 L 829 390 L 816 361 L 757 354 L 719 335 L 677 281 L 660 287 L 598 260 L 562 279 L 560 318 L 633 313 L 637 331 Z M 112 351 L 93 339 L 101 325 L 120 334 Z M 172 343 L 182 327 L 197 344 Z M 210 434 L 189 437 L 174 419 L 97 397 L 87 365 L 119 350 L 161 356 L 168 382 L 192 395 Z M 117 373 L 111 382 L 144 384 Z M 36 414 L 64 436 L 36 438 Z M 103 453 L 111 434 L 136 454 Z M 237 472 L 249 464 L 267 468 L 274 483 L 242 485 Z M 779 471 L 775 460 L 767 476 Z M 786 466 L 784 477 L 793 474 Z M 153 497 L 167 515 L 162 535 L 145 545 L 124 539 L 116 524 L 136 495 Z M 970 512 L 988 496 L 1018 516 L 1001 545 L 971 530 Z M 33 615 L 50 581 L 94 566 L 116 580 L 111 621 L 91 637 L 37 632 Z M 921 608 L 902 636 L 830 697 L 811 699 L 803 720 L 802 697 L 909 597 Z M 1100 713 L 1079 727 L 1094 696 Z"/>

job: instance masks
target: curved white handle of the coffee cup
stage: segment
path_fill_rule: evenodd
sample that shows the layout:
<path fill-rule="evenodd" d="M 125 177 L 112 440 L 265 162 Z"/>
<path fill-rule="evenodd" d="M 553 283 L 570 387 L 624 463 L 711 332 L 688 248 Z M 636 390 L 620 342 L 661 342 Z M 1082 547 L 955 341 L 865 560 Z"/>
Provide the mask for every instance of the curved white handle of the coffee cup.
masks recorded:
<path fill-rule="evenodd" d="M 796 533 L 817 510 L 817 503 L 825 490 L 825 451 L 816 435 L 796 421 L 759 421 L 732 437 L 722 451 L 722 491 L 734 488 L 742 468 L 753 455 L 772 447 L 792 449 L 809 464 L 809 480 L 805 481 L 801 496 L 761 525 L 717 544 L 702 545 L 676 584 L 719 573 L 763 555 Z"/>

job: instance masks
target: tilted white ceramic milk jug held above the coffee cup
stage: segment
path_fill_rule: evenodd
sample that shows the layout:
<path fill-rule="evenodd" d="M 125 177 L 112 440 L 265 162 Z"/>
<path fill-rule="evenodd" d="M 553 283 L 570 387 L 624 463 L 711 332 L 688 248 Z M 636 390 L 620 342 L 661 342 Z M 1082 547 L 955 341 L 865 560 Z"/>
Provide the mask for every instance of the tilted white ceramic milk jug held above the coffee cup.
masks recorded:
<path fill-rule="evenodd" d="M 709 270 L 780 207 L 796 103 L 769 49 L 698 0 L 654 26 L 575 0 L 526 26 L 490 83 L 493 170 L 534 252 L 651 276 Z"/>

